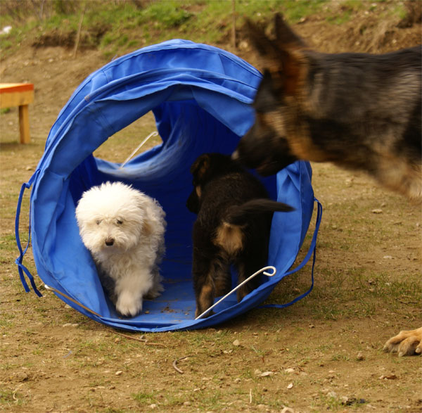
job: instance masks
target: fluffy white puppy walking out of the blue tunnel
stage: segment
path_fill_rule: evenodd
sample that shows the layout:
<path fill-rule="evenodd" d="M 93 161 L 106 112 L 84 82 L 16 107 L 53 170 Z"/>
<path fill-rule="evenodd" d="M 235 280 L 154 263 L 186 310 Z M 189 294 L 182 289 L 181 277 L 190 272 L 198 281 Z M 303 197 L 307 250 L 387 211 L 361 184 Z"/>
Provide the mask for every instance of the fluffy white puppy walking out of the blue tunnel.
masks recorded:
<path fill-rule="evenodd" d="M 165 250 L 165 212 L 145 193 L 106 182 L 82 194 L 76 219 L 117 312 L 134 317 L 144 297 L 164 290 L 158 264 Z"/>

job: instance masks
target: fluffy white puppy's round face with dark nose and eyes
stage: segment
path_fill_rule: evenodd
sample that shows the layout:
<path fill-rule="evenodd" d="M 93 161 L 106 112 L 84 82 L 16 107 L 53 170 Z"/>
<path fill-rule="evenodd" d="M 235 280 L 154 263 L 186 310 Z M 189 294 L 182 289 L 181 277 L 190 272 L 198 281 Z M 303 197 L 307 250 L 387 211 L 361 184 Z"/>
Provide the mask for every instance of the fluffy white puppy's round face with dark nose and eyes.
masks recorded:
<path fill-rule="evenodd" d="M 84 192 L 76 217 L 82 241 L 94 254 L 129 250 L 148 229 L 142 194 L 120 182 Z"/>

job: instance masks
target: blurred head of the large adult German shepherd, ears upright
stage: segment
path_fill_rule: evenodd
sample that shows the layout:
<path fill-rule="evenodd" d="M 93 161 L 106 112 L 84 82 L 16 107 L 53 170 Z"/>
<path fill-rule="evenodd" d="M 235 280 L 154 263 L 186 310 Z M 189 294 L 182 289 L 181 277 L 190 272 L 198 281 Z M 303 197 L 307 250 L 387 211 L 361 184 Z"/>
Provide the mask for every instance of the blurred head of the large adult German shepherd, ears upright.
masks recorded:
<path fill-rule="evenodd" d="M 253 103 L 255 124 L 241 139 L 233 158 L 265 176 L 302 158 L 288 137 L 298 136 L 301 129 L 298 125 L 295 131 L 292 125 L 302 111 L 300 101 L 309 63 L 303 53 L 307 49 L 305 43 L 281 15 L 275 17 L 274 40 L 250 20 L 246 20 L 246 25 L 265 69 Z"/>

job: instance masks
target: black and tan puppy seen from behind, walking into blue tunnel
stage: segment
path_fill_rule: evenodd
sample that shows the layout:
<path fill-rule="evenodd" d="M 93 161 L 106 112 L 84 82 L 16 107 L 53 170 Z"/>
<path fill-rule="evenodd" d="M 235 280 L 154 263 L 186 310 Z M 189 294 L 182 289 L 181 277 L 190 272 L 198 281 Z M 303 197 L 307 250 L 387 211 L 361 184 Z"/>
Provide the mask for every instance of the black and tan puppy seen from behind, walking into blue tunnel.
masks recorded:
<path fill-rule="evenodd" d="M 272 214 L 293 208 L 271 201 L 264 185 L 228 155 L 200 155 L 191 173 L 193 191 L 186 206 L 198 214 L 192 264 L 198 317 L 215 297 L 231 290 L 231 265 L 239 283 L 266 265 Z M 248 281 L 238 289 L 238 301 L 259 285 L 257 277 Z"/>

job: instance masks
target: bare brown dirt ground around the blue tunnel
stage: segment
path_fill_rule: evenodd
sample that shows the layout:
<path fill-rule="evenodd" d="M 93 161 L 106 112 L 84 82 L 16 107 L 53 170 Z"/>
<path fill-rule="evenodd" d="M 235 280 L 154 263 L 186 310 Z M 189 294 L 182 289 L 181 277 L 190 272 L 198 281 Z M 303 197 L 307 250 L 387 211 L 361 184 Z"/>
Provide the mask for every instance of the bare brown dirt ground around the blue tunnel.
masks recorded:
<path fill-rule="evenodd" d="M 377 5 L 343 25 L 314 16 L 295 28 L 321 51 L 384 52 L 421 42 L 421 25 L 377 19 L 384 7 Z M 254 63 L 246 40 L 235 52 Z M 74 59 L 69 49 L 30 44 L 1 60 L 1 82 L 33 82 L 35 102 L 26 146 L 17 144 L 17 110 L 0 116 L 0 410 L 422 412 L 422 358 L 382 351 L 399 330 L 422 325 L 421 208 L 363 174 L 312 165 L 324 207 L 315 287 L 285 310 L 255 309 L 215 329 L 142 336 L 97 324 L 49 291 L 43 298 L 25 293 L 14 264 L 18 191 L 72 91 L 105 63 L 101 51 Z M 97 155 L 129 153 L 133 143 L 122 142 Z M 309 237 L 304 251 L 308 245 Z M 31 251 L 25 262 L 35 273 Z M 307 265 L 269 302 L 283 303 L 309 282 Z"/>

